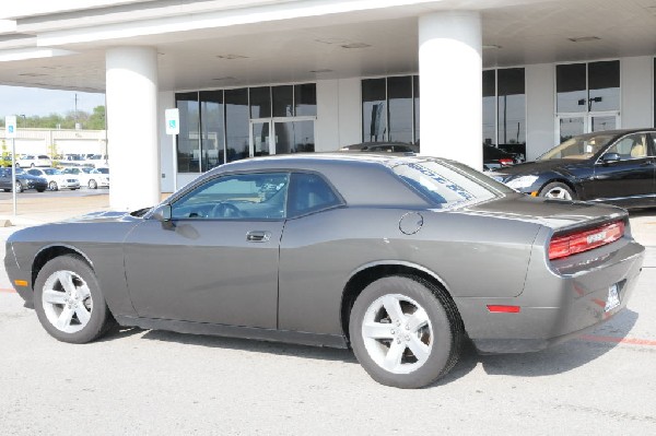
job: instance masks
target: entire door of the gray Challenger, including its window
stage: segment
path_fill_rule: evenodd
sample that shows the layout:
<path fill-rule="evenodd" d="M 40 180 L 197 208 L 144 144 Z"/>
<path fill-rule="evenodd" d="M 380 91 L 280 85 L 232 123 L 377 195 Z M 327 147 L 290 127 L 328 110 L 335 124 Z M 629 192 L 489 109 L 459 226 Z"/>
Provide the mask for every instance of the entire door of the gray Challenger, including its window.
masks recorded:
<path fill-rule="evenodd" d="M 125 241 L 141 317 L 277 328 L 279 246 L 289 175 L 208 180 L 147 219 Z"/>

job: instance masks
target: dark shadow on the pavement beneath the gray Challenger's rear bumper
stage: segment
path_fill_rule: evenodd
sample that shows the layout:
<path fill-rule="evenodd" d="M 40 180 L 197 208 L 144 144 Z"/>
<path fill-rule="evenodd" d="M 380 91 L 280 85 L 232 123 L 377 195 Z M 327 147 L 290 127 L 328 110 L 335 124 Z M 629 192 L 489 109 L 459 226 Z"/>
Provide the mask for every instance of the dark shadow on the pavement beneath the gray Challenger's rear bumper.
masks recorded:
<path fill-rule="evenodd" d="M 588 364 L 619 345 L 635 322 L 639 314 L 629 309 L 589 334 L 572 339 L 536 353 L 480 355 L 487 374 L 540 377 L 566 373 Z"/>

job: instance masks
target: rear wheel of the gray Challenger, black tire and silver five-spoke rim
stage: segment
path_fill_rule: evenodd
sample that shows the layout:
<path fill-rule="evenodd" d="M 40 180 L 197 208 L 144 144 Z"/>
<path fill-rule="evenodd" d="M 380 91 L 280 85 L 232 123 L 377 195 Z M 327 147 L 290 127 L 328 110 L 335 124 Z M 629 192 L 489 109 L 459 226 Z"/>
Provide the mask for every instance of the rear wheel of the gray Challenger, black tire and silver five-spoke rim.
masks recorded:
<path fill-rule="evenodd" d="M 378 308 L 384 297 L 399 302 L 403 320 Z M 406 327 L 419 309 L 425 313 L 425 326 L 417 330 Z M 383 329 L 389 321 L 390 339 L 365 339 L 363 325 L 372 321 Z M 368 375 L 383 385 L 403 389 L 422 388 L 446 375 L 458 362 L 465 338 L 458 310 L 446 293 L 430 282 L 403 275 L 378 279 L 364 288 L 351 310 L 349 333 L 353 353 Z M 427 349 L 425 357 L 418 357 L 411 350 L 415 344 Z M 398 364 L 394 369 L 383 367 L 378 362 L 391 354 L 398 355 Z"/>

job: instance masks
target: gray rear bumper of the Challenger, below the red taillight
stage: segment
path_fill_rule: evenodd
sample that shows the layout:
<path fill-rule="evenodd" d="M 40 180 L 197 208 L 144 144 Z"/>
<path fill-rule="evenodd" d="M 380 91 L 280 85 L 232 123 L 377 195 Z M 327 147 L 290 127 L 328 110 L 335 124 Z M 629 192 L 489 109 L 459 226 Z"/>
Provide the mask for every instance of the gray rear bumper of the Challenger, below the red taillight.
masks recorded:
<path fill-rule="evenodd" d="M 536 256 L 544 259 L 543 252 L 531 258 Z M 643 259 L 644 247 L 623 239 L 553 264 L 531 261 L 519 296 L 456 298 L 456 304 L 479 352 L 539 351 L 589 331 L 620 313 L 637 283 Z M 620 305 L 607 311 L 609 288 L 614 284 Z M 490 313 L 491 304 L 519 306 L 520 310 Z"/>

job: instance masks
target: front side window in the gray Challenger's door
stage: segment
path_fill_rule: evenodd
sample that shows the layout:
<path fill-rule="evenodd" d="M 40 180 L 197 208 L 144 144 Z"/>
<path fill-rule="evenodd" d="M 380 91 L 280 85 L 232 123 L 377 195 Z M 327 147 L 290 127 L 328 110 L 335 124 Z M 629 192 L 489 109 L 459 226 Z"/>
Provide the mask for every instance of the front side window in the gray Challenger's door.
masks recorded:
<path fill-rule="evenodd" d="M 177 220 L 284 219 L 288 173 L 254 173 L 218 177 L 172 204 Z"/>

